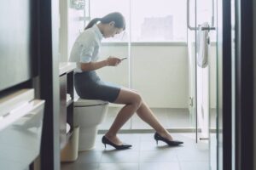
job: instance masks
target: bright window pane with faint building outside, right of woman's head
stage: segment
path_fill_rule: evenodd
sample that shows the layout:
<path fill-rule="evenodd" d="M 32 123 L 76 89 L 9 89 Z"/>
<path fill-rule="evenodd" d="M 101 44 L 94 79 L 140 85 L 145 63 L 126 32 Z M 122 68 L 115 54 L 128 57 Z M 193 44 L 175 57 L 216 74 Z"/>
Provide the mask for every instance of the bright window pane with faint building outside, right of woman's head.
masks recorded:
<path fill-rule="evenodd" d="M 185 42 L 185 0 L 131 0 L 131 42 Z"/>

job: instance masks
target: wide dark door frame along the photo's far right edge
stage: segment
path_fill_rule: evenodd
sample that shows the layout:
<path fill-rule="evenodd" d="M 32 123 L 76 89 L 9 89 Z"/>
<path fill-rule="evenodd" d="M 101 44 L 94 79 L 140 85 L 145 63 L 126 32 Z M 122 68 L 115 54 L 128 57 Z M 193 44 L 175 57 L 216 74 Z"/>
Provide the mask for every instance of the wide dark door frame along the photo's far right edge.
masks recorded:
<path fill-rule="evenodd" d="M 253 168 L 253 0 L 236 0 L 236 169 Z"/>

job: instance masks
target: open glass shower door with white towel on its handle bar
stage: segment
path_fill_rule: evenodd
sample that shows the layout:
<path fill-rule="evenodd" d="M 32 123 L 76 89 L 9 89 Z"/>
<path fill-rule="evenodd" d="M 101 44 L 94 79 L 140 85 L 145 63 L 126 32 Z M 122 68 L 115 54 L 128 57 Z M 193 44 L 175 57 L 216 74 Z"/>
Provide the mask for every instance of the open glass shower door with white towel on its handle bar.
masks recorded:
<path fill-rule="evenodd" d="M 208 145 L 209 169 L 217 169 L 216 1 L 196 0 L 196 96 L 198 139 Z"/>

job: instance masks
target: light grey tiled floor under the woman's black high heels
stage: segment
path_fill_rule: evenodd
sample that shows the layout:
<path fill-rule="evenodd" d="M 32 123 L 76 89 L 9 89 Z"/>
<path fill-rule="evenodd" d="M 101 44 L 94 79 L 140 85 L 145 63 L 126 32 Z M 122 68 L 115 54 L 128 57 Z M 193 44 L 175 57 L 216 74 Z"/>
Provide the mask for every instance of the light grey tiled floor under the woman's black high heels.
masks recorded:
<path fill-rule="evenodd" d="M 172 133 L 175 139 L 183 140 L 183 146 L 156 145 L 153 133 L 119 134 L 130 150 L 114 150 L 96 139 L 96 148 L 79 152 L 73 163 L 62 163 L 61 170 L 209 170 L 209 151 L 206 142 L 195 143 L 195 134 Z"/>

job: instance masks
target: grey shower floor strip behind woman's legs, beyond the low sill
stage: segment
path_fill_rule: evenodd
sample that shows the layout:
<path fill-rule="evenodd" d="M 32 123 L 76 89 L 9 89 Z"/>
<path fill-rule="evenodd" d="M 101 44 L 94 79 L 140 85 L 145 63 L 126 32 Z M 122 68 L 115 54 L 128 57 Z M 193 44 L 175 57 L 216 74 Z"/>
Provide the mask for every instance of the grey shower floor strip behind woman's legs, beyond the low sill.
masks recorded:
<path fill-rule="evenodd" d="M 118 114 L 120 107 L 109 107 L 107 118 L 99 126 L 99 129 L 108 129 L 115 116 Z M 154 115 L 159 119 L 162 125 L 168 129 L 186 129 L 195 127 L 195 116 L 189 115 L 188 109 L 170 109 L 170 108 L 153 108 Z M 194 120 L 193 120 L 194 119 Z M 211 127 L 216 127 L 216 113 L 211 111 Z M 147 123 L 143 122 L 137 114 L 132 116 L 131 121 L 125 123 L 122 129 L 152 129 Z"/>

